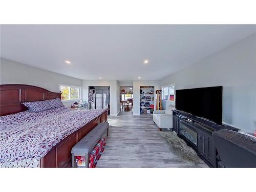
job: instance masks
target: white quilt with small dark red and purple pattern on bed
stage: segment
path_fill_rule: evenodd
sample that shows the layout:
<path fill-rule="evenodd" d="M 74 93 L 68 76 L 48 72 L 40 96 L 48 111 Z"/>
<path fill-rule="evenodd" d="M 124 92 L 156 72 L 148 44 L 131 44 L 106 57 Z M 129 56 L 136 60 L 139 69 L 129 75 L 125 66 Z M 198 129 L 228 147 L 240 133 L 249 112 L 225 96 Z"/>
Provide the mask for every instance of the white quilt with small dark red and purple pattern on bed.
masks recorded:
<path fill-rule="evenodd" d="M 39 167 L 39 159 L 106 110 L 61 107 L 0 117 L 0 167 Z"/>

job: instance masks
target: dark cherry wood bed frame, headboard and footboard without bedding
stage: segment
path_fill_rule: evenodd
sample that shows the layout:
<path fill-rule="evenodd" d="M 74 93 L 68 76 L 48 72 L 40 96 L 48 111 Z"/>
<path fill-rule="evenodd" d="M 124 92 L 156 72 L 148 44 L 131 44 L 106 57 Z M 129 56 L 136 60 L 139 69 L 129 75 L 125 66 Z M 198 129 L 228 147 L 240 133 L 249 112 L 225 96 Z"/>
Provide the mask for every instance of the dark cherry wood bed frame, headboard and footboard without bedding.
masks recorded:
<path fill-rule="evenodd" d="M 44 88 L 27 84 L 0 85 L 0 116 L 28 110 L 23 102 L 61 98 L 61 93 L 54 93 Z M 108 111 L 95 117 L 79 130 L 57 143 L 40 159 L 40 167 L 71 167 L 71 149 L 100 122 L 108 121 Z"/>

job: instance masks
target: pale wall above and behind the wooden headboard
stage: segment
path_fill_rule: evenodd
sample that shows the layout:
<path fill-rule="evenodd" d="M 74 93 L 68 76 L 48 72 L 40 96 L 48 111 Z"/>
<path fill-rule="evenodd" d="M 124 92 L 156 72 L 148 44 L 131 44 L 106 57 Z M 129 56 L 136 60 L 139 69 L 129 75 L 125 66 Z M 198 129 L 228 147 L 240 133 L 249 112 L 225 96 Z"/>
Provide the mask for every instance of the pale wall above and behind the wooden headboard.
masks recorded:
<path fill-rule="evenodd" d="M 82 80 L 80 79 L 31 67 L 4 58 L 0 60 L 0 69 L 1 84 L 30 84 L 52 92 L 59 92 L 59 83 L 82 86 Z M 64 102 L 66 106 L 70 106 L 72 103 L 74 101 Z"/>

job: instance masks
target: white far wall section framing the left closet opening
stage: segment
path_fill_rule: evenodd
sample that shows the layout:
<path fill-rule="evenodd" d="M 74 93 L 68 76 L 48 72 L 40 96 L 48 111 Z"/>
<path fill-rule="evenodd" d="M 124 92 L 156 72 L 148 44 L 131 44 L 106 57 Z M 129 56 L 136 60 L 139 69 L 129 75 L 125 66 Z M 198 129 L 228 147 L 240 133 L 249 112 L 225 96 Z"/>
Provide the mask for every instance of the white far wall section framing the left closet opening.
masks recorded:
<path fill-rule="evenodd" d="M 110 86 L 110 115 L 116 116 L 117 109 L 119 109 L 119 105 L 117 106 L 117 80 L 82 80 L 82 97 L 87 102 L 90 86 Z"/>

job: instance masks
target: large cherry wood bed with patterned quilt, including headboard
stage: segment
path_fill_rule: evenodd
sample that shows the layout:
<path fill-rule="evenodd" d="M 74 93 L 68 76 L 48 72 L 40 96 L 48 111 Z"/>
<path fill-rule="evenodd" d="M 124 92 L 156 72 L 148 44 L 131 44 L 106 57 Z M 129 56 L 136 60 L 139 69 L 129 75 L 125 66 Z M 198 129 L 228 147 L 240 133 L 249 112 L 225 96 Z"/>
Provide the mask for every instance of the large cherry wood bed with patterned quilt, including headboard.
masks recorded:
<path fill-rule="evenodd" d="M 25 84 L 0 85 L 1 167 L 71 167 L 72 147 L 108 120 L 108 110 L 60 107 L 35 113 L 22 104 L 60 96 Z"/>

